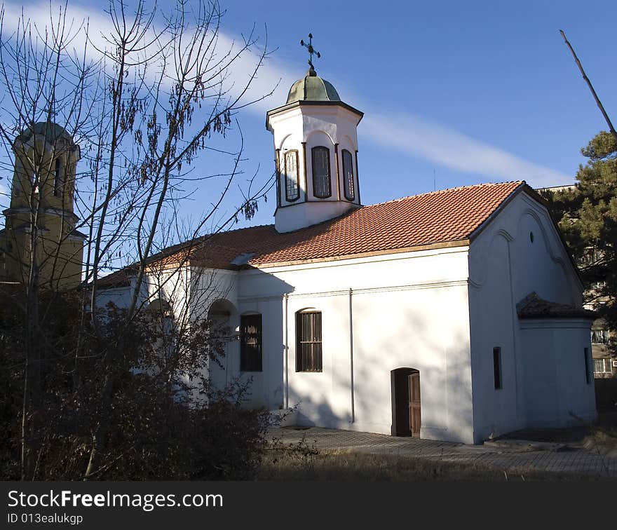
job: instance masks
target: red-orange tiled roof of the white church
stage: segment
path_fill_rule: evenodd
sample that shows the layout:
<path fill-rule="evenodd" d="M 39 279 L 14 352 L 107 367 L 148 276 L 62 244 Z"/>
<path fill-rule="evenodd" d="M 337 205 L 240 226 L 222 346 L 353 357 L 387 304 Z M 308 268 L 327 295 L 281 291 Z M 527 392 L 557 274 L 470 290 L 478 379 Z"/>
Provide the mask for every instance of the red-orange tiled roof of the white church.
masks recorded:
<path fill-rule="evenodd" d="M 423 245 L 464 241 L 499 205 L 523 188 L 529 189 L 524 181 L 477 184 L 362 206 L 294 232 L 278 233 L 273 225 L 266 225 L 216 233 L 194 241 L 192 247 L 170 247 L 150 261 L 171 264 L 190 252 L 192 264 L 238 269 L 240 265 L 231 261 L 240 254 L 252 254 L 249 265 L 264 266 L 404 252 Z M 126 280 L 126 274 L 120 273 L 101 281 L 111 284 L 114 276 Z"/>

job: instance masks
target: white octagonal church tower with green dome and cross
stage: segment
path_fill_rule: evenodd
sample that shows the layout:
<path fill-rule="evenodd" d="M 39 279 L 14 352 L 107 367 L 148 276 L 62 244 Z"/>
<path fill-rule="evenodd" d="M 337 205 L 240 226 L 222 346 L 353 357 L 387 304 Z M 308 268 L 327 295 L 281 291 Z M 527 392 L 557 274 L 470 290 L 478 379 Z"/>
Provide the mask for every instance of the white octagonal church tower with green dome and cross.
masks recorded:
<path fill-rule="evenodd" d="M 313 67 L 296 81 L 287 102 L 268 112 L 276 163 L 275 228 L 290 232 L 343 215 L 360 206 L 358 123 L 362 112 L 341 101 Z"/>

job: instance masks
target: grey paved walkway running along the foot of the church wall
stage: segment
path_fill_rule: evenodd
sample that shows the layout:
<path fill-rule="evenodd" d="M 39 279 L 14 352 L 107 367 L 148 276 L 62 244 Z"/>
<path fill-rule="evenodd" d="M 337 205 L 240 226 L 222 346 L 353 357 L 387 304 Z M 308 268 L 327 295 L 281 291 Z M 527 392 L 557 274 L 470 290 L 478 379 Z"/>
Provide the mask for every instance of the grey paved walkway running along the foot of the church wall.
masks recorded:
<path fill-rule="evenodd" d="M 304 437 L 306 443 L 314 444 L 322 452 L 398 454 L 427 460 L 477 464 L 508 473 L 536 470 L 617 478 L 617 458 L 614 456 L 602 456 L 597 451 L 557 444 L 512 442 L 505 447 L 491 444 L 465 445 L 317 427 L 273 429 L 271 436 L 280 438 L 285 444 L 299 442 Z"/>

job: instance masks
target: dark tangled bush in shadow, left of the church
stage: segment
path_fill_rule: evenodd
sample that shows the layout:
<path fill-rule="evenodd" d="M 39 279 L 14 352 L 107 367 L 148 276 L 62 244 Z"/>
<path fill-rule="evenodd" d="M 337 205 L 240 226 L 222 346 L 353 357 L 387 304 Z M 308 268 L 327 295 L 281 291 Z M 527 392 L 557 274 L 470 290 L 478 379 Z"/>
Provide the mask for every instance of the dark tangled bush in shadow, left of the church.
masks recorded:
<path fill-rule="evenodd" d="M 136 315 L 127 325 L 123 311 L 109 307 L 93 329 L 80 318 L 75 294 L 44 294 L 41 309 L 53 304 L 53 311 L 41 311 L 38 339 L 25 346 L 27 315 L 16 302 L 0 297 L 0 479 L 255 476 L 269 414 L 244 407 L 247 384 L 214 390 L 201 379 L 224 350 L 209 322 L 173 330 L 165 339 L 175 347 L 163 355 L 161 327 L 149 315 Z M 32 344 L 39 370 L 31 380 L 38 388 L 25 408 Z M 196 389 L 203 395 L 200 407 L 187 398 Z M 21 465 L 24 413 L 25 447 L 36 462 L 31 475 Z"/>

